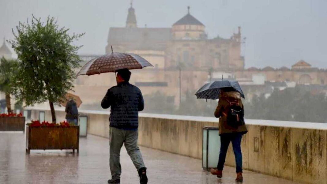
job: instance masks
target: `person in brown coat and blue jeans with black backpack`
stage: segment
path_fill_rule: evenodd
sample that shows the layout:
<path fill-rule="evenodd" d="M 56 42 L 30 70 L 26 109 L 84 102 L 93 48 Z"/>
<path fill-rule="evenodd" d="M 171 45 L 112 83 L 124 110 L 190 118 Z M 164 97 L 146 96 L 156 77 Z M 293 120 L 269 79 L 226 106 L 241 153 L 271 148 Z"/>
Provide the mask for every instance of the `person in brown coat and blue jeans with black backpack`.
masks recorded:
<path fill-rule="evenodd" d="M 236 162 L 235 181 L 242 182 L 241 139 L 248 130 L 244 123 L 244 107 L 240 93 L 233 88 L 221 88 L 215 117 L 219 118 L 220 154 L 217 168 L 211 169 L 211 174 L 217 175 L 218 178 L 222 177 L 227 149 L 232 142 Z"/>

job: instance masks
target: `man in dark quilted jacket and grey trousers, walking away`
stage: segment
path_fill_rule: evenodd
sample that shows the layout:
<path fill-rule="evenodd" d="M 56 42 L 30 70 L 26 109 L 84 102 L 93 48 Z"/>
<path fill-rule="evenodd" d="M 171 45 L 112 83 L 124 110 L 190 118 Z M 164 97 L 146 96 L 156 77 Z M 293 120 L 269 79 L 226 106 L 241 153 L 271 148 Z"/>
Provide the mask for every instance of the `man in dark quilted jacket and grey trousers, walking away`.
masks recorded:
<path fill-rule="evenodd" d="M 101 106 L 110 109 L 110 171 L 108 183 L 120 183 L 121 166 L 119 162 L 120 149 L 125 145 L 127 153 L 136 167 L 140 183 L 147 183 L 146 167 L 138 139 L 138 111 L 144 109 L 143 96 L 139 88 L 129 84 L 130 71 L 117 71 L 117 85 L 110 88 L 104 96 Z"/>

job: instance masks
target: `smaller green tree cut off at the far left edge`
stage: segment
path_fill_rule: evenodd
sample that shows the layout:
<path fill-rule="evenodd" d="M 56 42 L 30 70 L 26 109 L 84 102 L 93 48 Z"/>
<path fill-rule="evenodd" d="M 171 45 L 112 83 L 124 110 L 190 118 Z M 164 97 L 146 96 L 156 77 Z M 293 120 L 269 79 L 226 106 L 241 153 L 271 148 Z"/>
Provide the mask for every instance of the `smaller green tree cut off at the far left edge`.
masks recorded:
<path fill-rule="evenodd" d="M 12 113 L 11 109 L 11 97 L 10 94 L 14 91 L 14 81 L 15 75 L 18 70 L 18 62 L 13 59 L 1 58 L 0 63 L 0 91 L 4 92 L 6 95 L 6 104 L 8 113 Z"/>

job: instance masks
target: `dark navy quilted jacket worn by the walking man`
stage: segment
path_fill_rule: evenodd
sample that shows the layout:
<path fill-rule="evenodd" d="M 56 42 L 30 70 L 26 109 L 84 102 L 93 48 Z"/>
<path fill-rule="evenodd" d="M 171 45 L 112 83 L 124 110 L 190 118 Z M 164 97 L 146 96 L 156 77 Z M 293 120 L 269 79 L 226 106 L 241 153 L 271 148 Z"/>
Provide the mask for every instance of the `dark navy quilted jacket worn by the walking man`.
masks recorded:
<path fill-rule="evenodd" d="M 110 126 L 119 129 L 137 129 L 139 113 L 144 109 L 141 90 L 128 82 L 119 83 L 107 91 L 101 102 L 110 109 Z"/>

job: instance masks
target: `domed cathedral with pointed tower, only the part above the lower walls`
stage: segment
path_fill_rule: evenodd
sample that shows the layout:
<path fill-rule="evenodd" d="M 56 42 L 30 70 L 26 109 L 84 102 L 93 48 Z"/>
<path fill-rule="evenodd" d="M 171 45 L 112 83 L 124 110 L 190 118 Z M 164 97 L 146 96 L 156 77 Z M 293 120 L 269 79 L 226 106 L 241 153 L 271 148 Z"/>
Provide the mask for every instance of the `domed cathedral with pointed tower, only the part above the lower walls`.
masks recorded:
<path fill-rule="evenodd" d="M 205 25 L 190 13 L 167 28 L 138 27 L 131 7 L 125 27 L 111 27 L 106 53 L 132 52 L 148 59 L 159 69 L 214 70 L 244 69 L 241 53 L 241 28 L 230 39 L 208 39 Z"/>

